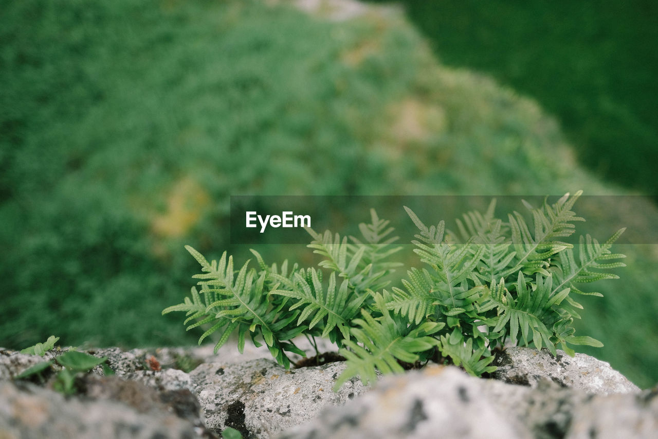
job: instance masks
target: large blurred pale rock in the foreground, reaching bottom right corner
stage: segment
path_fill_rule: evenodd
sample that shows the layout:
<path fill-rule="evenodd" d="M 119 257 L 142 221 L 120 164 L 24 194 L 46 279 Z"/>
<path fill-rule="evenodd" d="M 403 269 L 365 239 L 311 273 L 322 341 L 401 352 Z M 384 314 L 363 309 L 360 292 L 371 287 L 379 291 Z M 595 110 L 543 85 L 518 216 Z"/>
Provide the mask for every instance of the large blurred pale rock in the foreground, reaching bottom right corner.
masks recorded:
<path fill-rule="evenodd" d="M 648 439 L 658 436 L 657 395 L 593 395 L 545 378 L 520 386 L 474 378 L 453 366 L 428 366 L 387 376 L 279 439 Z"/>

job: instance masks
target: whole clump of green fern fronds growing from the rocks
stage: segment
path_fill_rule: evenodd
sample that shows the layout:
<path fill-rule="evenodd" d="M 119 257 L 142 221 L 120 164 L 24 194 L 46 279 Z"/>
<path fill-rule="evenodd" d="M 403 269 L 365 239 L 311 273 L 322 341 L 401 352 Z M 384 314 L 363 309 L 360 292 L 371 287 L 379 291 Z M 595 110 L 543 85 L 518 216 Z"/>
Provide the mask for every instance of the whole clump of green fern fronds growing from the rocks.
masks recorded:
<path fill-rule="evenodd" d="M 397 237 L 388 221 L 371 210 L 370 224 L 361 224 L 363 239 L 340 237 L 308 229 L 308 246 L 323 257 L 320 268 L 268 266 L 255 250 L 258 269 L 249 261 L 234 270 L 232 256 L 208 262 L 186 249 L 201 264 L 199 279 L 184 303 L 163 314 L 184 311 L 188 330 L 211 324 L 199 338 L 219 332 L 215 351 L 238 334 L 242 352 L 245 336 L 256 345 L 265 341 L 272 356 L 288 368 L 286 353 L 304 355 L 293 343 L 300 334 L 327 337 L 340 347 L 347 368 L 336 389 L 353 376 L 365 384 L 382 373 L 401 372 L 401 363 L 449 360 L 481 376 L 495 370 L 492 349 L 507 345 L 546 347 L 556 355 L 569 345 L 602 344 L 576 336 L 573 322 L 582 309 L 574 295 L 586 293 L 576 285 L 617 278 L 607 271 L 622 267 L 623 254 L 610 251 L 620 229 L 604 243 L 590 235 L 574 245 L 563 241 L 574 233 L 572 207 L 582 192 L 566 194 L 555 204 L 538 208 L 526 204 L 529 225 L 519 212 L 507 221 L 495 218 L 495 200 L 484 214 L 468 212 L 457 220 L 457 233 L 444 221 L 425 225 L 405 207 L 418 228 L 414 250 L 424 268 L 410 268 L 399 287 L 384 280 L 401 264 L 390 256 Z M 577 251 L 576 251 L 577 250 Z M 324 270 L 328 271 L 328 275 Z"/>

